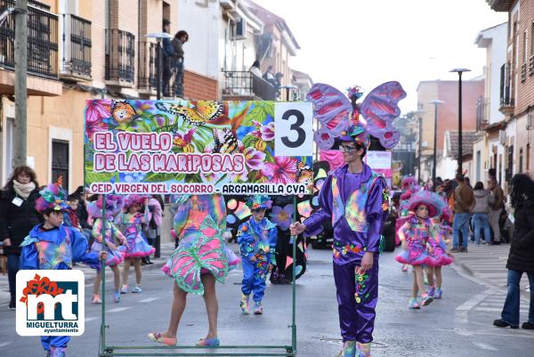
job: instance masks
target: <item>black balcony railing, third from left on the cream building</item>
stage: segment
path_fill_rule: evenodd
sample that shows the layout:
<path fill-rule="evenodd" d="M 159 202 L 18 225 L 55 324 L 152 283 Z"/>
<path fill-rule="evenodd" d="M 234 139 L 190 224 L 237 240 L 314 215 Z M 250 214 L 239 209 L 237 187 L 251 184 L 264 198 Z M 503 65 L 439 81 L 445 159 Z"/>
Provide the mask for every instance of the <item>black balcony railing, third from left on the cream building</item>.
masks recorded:
<path fill-rule="evenodd" d="M 135 36 L 120 29 L 106 30 L 106 80 L 134 84 Z"/>

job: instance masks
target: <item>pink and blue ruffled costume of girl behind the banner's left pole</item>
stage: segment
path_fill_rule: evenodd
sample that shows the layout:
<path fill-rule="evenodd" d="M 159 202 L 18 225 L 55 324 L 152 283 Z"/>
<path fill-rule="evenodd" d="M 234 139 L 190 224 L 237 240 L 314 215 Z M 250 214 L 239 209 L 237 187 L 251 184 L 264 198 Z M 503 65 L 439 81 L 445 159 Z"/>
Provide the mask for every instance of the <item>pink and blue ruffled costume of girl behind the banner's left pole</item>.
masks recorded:
<path fill-rule="evenodd" d="M 106 231 L 105 239 L 107 242 L 117 246 L 119 243 L 125 242 L 125 236 L 118 230 L 117 226 L 113 223 L 114 216 L 124 206 L 124 199 L 117 195 L 106 196 Z M 100 253 L 102 249 L 102 198 L 97 201 L 90 202 L 87 205 L 87 213 L 95 218 L 93 222 L 93 238 L 94 242 L 91 246 L 91 251 Z M 126 247 L 118 246 L 116 249 L 106 248 L 108 252 L 108 259 L 106 260 L 107 266 L 121 264 L 125 260 Z"/>

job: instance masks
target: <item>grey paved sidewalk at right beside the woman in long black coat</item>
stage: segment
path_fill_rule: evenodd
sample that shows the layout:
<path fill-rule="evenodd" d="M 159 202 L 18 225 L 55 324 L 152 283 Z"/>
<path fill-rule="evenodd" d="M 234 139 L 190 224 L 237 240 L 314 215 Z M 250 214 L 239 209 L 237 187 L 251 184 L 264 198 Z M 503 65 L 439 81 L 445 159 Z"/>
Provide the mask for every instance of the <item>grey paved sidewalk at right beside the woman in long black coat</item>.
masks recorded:
<path fill-rule="evenodd" d="M 509 244 L 476 246 L 469 242 L 468 253 L 455 253 L 454 262 L 469 275 L 482 282 L 506 291 L 506 260 L 510 251 Z M 526 291 L 529 285 L 527 274 L 523 274 L 521 280 L 522 296 L 529 298 L 530 292 Z"/>

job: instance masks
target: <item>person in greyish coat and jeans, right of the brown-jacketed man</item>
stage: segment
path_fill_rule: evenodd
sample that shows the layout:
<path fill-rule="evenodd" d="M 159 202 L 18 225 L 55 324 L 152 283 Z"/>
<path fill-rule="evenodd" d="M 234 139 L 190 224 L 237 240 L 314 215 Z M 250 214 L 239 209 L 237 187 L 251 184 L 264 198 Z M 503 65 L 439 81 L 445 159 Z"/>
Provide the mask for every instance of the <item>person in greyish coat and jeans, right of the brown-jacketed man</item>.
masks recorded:
<path fill-rule="evenodd" d="M 486 244 L 490 244 L 490 206 L 494 200 L 493 193 L 489 190 L 484 190 L 484 184 L 478 182 L 474 185 L 473 195 L 474 207 L 471 213 L 473 214 L 474 242 L 476 245 L 481 244 L 481 231 L 484 231 Z"/>

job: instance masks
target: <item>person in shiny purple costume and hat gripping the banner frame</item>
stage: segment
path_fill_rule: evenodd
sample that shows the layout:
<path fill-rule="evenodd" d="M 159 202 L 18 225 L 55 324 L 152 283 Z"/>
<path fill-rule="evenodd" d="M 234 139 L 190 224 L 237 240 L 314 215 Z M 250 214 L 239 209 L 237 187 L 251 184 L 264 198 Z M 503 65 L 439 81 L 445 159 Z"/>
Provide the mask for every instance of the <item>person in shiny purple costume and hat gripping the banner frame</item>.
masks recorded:
<path fill-rule="evenodd" d="M 359 125 L 349 126 L 336 138 L 346 165 L 328 174 L 319 195 L 320 210 L 290 227 L 293 235 L 312 236 L 332 220 L 334 280 L 344 341 L 338 357 L 368 357 L 375 327 L 378 254 L 388 197 L 384 177 L 362 161 L 368 145 L 368 133 Z"/>

